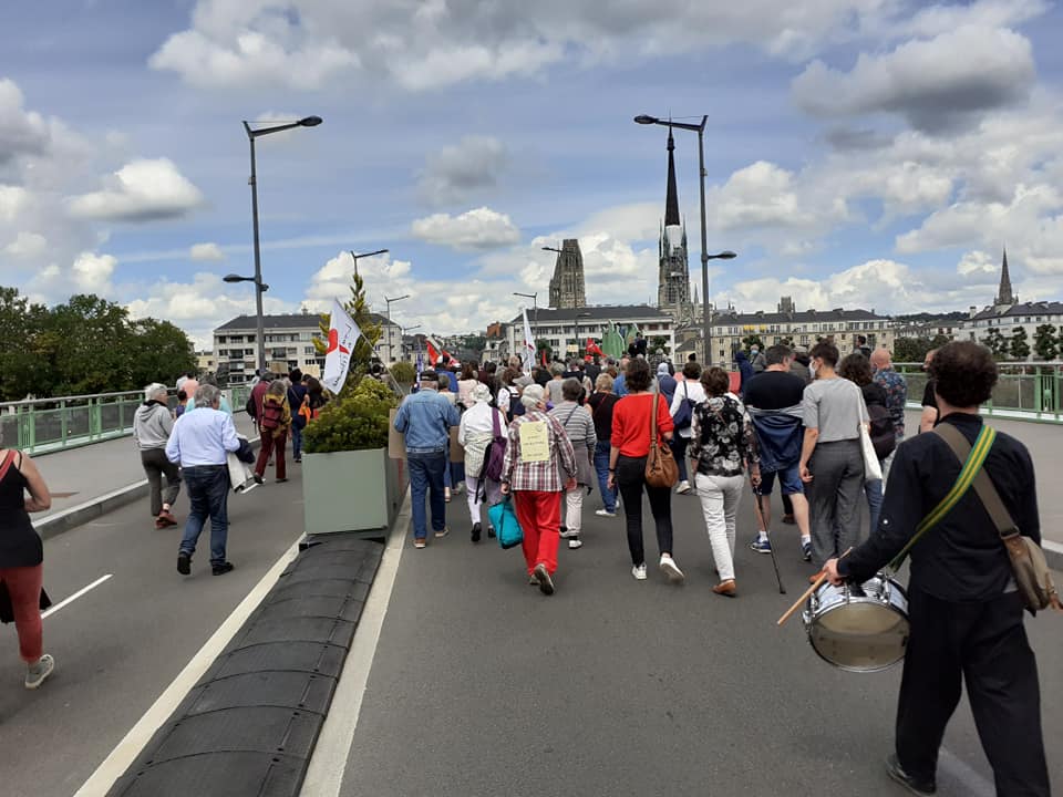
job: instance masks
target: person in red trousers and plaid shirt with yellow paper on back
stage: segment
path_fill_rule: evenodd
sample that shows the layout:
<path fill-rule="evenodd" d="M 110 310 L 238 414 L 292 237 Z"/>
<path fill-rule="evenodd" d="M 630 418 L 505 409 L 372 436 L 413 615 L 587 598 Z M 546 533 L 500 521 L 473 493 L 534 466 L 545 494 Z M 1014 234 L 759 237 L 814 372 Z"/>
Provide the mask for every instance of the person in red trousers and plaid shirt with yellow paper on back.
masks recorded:
<path fill-rule="evenodd" d="M 576 455 L 561 424 L 546 414 L 541 386 L 525 387 L 520 402 L 525 413 L 509 424 L 502 491 L 514 497 L 529 583 L 538 584 L 543 594 L 554 594 L 561 491 L 576 487 Z"/>

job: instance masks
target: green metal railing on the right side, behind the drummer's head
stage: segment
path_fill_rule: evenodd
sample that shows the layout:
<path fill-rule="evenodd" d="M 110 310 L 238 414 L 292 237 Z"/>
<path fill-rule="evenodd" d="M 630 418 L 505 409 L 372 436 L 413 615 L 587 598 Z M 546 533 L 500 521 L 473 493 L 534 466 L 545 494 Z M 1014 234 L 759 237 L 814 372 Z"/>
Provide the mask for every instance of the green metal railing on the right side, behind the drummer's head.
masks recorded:
<path fill-rule="evenodd" d="M 908 407 L 918 408 L 927 386 L 922 363 L 894 363 L 908 382 Z M 982 413 L 1063 424 L 1063 362 L 1000 363 L 1000 379 Z"/>

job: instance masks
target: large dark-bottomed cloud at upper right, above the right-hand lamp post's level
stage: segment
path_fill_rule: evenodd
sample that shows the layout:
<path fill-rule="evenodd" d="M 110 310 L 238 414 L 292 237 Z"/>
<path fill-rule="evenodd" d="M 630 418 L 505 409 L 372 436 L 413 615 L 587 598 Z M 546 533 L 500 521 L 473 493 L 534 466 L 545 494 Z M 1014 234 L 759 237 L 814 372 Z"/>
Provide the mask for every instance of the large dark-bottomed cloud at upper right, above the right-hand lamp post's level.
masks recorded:
<path fill-rule="evenodd" d="M 847 73 L 815 61 L 794 81 L 793 94 L 816 116 L 891 113 L 916 128 L 942 132 L 1026 100 L 1034 77 L 1025 38 L 964 25 L 887 54 L 861 53 Z"/>

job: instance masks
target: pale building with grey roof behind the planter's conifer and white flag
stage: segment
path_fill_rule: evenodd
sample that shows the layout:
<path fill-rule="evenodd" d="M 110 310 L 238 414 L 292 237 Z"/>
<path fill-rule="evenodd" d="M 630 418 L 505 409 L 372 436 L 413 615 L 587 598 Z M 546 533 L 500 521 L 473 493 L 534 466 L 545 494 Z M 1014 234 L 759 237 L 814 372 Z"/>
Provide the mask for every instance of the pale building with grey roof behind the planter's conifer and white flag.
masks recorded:
<path fill-rule="evenodd" d="M 378 313 L 370 313 L 370 318 L 382 328 L 376 354 L 384 363 L 391 363 L 402 349 L 402 330 Z M 271 368 L 283 363 L 288 369 L 299 368 L 311 376 L 320 376 L 324 356 L 313 345 L 313 340 L 321 337 L 319 320 L 320 315 L 308 311 L 264 315 L 266 362 Z M 239 315 L 214 331 L 215 372 L 220 381 L 230 385 L 251 381 L 257 368 L 257 339 L 255 315 Z"/>

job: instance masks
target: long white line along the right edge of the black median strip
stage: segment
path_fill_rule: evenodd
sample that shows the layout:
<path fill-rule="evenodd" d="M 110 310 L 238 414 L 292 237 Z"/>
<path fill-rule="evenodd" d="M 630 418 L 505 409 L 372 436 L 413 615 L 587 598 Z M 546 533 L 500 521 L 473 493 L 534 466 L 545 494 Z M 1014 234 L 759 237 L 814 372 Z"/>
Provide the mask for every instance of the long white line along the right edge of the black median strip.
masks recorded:
<path fill-rule="evenodd" d="M 376 578 L 370 589 L 365 608 L 358 622 L 358 632 L 351 650 L 347 654 L 343 672 L 332 696 L 332 707 L 324 718 L 324 725 L 318 736 L 310 757 L 307 777 L 302 782 L 300 797 L 339 797 L 343 785 L 347 759 L 358 728 L 358 718 L 362 711 L 362 697 L 369 672 L 376 655 L 376 643 L 388 614 L 388 604 L 395 587 L 395 575 L 402 559 L 403 542 L 410 527 L 410 493 L 406 493 L 402 509 L 388 538 L 388 547 L 380 561 Z M 76 797 L 76 796 L 75 796 Z"/>

